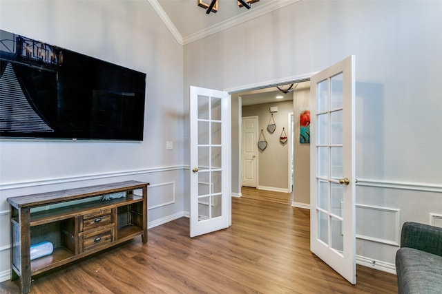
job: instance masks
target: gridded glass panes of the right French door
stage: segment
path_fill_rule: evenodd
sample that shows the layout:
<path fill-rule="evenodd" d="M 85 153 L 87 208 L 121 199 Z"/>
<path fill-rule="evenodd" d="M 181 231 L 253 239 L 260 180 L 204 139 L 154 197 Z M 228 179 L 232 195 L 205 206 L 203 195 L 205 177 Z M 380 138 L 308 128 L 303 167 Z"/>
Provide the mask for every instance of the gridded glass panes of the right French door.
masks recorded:
<path fill-rule="evenodd" d="M 316 156 L 318 156 L 318 236 L 336 253 L 343 255 L 343 231 L 340 211 L 343 190 L 343 93 L 342 73 L 318 83 L 316 121 Z M 327 238 L 326 238 L 327 236 Z"/>

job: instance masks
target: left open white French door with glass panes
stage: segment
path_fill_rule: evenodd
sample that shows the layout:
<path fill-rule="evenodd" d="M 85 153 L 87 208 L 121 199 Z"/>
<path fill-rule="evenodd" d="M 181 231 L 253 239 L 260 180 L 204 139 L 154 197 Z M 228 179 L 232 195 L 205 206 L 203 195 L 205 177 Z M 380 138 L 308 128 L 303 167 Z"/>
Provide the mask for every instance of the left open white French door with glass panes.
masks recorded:
<path fill-rule="evenodd" d="M 230 116 L 229 93 L 191 86 L 191 237 L 231 224 Z"/>

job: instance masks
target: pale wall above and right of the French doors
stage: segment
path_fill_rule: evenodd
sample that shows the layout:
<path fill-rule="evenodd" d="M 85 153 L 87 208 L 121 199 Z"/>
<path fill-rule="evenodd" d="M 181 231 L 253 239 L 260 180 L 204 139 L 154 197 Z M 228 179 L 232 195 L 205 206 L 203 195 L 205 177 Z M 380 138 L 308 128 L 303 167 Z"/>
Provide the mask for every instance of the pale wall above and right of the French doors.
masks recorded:
<path fill-rule="evenodd" d="M 442 214 L 441 12 L 441 1 L 299 1 L 189 43 L 184 115 L 189 85 L 265 85 L 356 55 L 358 262 L 394 272 L 401 224 Z"/>

